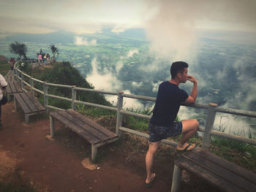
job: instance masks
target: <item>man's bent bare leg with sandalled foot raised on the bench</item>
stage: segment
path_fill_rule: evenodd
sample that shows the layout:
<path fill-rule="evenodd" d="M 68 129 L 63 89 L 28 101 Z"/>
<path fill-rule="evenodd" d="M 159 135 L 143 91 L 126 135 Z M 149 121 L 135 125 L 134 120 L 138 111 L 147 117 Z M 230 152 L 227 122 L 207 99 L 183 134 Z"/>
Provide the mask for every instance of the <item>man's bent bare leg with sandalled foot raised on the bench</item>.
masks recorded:
<path fill-rule="evenodd" d="M 195 119 L 182 120 L 181 123 L 181 134 L 183 135 L 181 137 L 181 140 L 178 142 L 177 150 L 184 150 L 187 147 L 187 145 L 189 145 L 186 143 L 187 140 L 189 140 L 189 138 L 191 138 L 199 128 L 199 123 Z M 192 150 L 194 147 L 195 145 L 191 145 L 187 148 L 187 150 Z"/>

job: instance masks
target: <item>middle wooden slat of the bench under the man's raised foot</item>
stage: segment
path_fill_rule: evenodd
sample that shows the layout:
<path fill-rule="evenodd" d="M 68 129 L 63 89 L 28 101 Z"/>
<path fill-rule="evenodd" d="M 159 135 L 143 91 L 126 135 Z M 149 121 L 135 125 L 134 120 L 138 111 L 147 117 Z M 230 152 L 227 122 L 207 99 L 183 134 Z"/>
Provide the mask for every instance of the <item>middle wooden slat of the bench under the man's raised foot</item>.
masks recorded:
<path fill-rule="evenodd" d="M 209 172 L 217 174 L 222 179 L 233 183 L 233 185 L 236 185 L 245 191 L 256 191 L 256 185 L 244 179 L 244 177 L 241 177 L 239 175 L 240 172 L 231 172 L 230 170 L 226 169 L 226 167 L 219 166 L 219 164 L 217 164 L 215 161 L 215 157 L 208 160 L 207 158 L 202 158 L 200 155 L 197 155 L 197 153 L 187 153 L 184 156 L 188 158 L 188 161 L 193 161 L 196 164 L 199 164 Z"/>

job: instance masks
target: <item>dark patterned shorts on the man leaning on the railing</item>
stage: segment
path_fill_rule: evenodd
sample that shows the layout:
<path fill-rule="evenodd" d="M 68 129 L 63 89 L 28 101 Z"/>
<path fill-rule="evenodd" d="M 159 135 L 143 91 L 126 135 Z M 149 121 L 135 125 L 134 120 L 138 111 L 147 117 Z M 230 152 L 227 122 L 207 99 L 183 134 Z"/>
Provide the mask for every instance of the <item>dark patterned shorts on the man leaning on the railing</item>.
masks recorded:
<path fill-rule="evenodd" d="M 167 137 L 174 137 L 181 134 L 181 121 L 173 122 L 172 126 L 153 126 L 148 123 L 149 142 L 159 142 Z"/>

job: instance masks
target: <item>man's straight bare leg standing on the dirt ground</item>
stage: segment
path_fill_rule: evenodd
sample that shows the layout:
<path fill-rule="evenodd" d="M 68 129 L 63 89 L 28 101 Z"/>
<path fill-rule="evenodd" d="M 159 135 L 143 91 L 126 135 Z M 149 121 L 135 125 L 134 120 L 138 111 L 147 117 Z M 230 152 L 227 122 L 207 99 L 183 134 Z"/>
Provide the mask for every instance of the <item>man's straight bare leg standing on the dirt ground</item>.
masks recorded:
<path fill-rule="evenodd" d="M 146 183 L 151 183 L 151 181 L 154 179 L 154 177 L 152 176 L 153 173 L 151 169 L 153 166 L 154 155 L 157 153 L 159 144 L 160 142 L 149 142 L 148 152 L 146 154 Z"/>

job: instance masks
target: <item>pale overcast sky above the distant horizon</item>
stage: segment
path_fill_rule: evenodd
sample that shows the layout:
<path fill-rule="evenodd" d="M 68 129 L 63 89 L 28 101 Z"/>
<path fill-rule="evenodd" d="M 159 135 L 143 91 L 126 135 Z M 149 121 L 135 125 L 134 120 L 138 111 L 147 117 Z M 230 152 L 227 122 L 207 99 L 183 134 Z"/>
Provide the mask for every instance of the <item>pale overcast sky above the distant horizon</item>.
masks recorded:
<path fill-rule="evenodd" d="M 120 32 L 158 20 L 192 29 L 256 31 L 255 10 L 255 0 L 1 0 L 0 33 L 84 34 L 103 26 Z"/>

